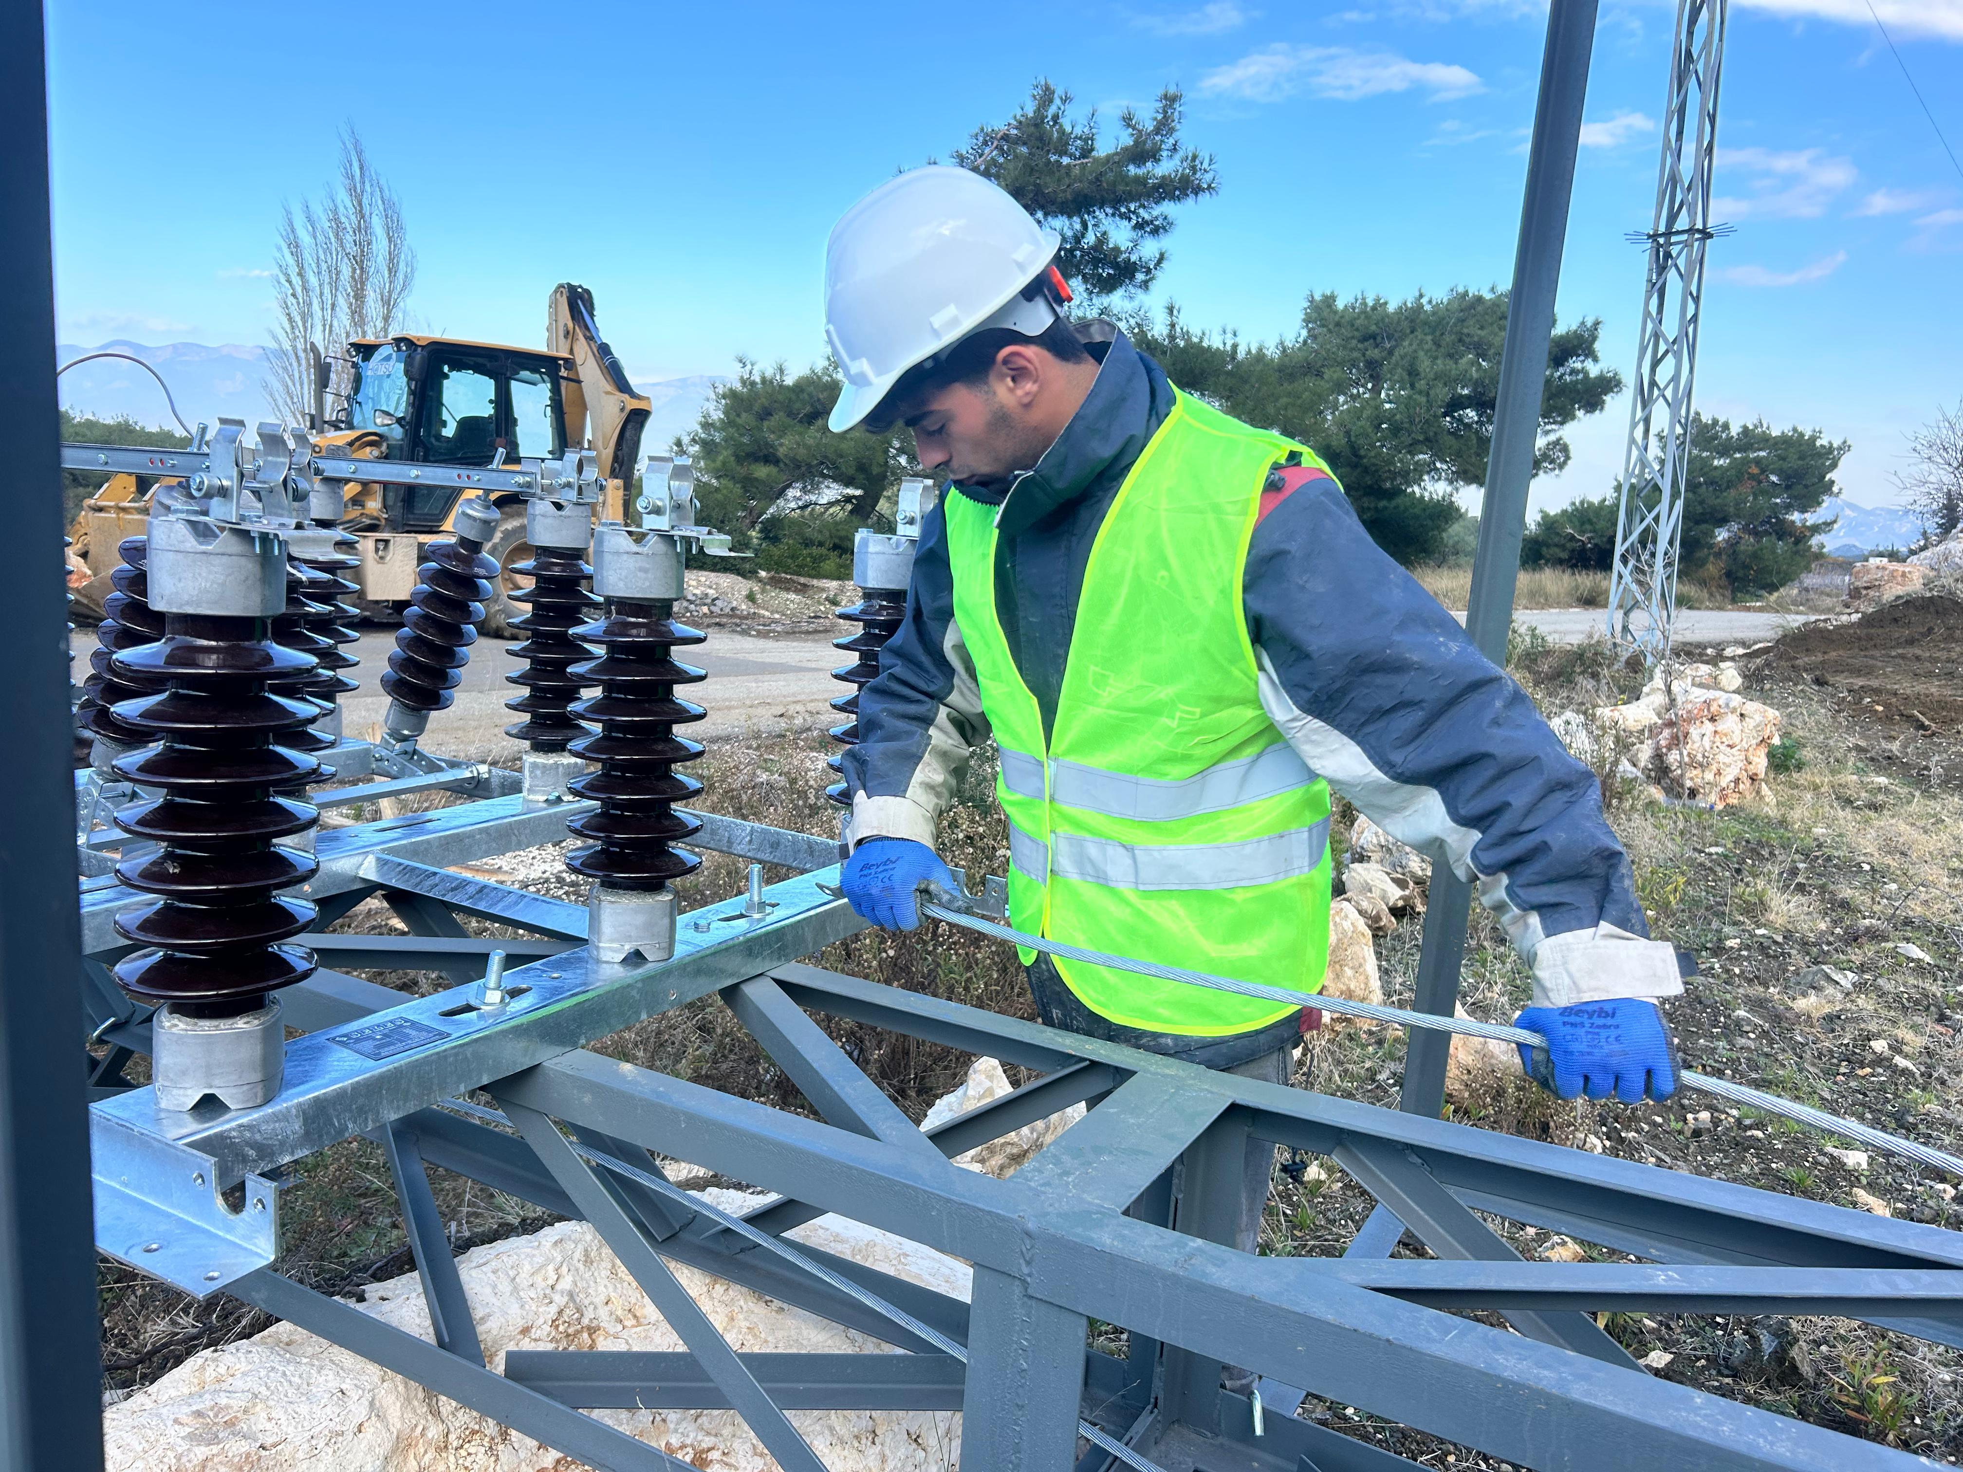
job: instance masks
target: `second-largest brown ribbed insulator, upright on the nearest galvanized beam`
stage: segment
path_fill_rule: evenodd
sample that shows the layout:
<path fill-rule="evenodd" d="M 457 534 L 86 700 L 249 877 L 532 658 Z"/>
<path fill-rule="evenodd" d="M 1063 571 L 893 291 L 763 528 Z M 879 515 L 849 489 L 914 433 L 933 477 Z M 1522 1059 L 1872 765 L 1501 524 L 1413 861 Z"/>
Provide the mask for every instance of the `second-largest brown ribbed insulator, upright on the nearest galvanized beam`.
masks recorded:
<path fill-rule="evenodd" d="M 667 599 L 609 599 L 603 618 L 573 630 L 601 650 L 599 659 L 571 669 L 575 679 L 601 687 L 599 695 L 571 707 L 581 720 L 599 724 L 597 734 L 571 744 L 573 756 L 599 762 L 599 771 L 573 777 L 567 785 L 599 803 L 599 811 L 565 824 L 575 838 L 593 840 L 567 854 L 565 867 L 597 879 L 603 889 L 665 889 L 703 864 L 701 856 L 673 848 L 703 826 L 675 813 L 675 803 L 703 791 L 695 777 L 675 771 L 703 754 L 699 742 L 675 736 L 675 726 L 701 720 L 707 712 L 691 701 L 677 701 L 675 685 L 693 685 L 707 673 L 677 663 L 673 650 L 701 644 L 707 634 L 677 624 L 673 610 Z"/>

